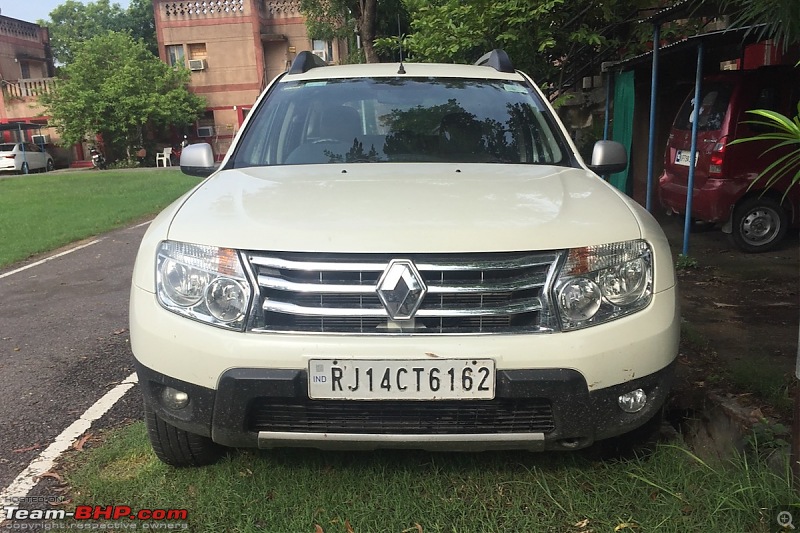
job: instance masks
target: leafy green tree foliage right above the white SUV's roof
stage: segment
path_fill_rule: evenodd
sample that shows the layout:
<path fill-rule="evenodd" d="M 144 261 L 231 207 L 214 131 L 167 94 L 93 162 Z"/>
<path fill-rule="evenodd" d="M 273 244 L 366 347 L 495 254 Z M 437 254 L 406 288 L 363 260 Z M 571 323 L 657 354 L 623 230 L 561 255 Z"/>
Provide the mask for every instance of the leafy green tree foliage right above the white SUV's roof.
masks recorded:
<path fill-rule="evenodd" d="M 444 0 L 411 9 L 406 47 L 424 61 L 472 63 L 503 48 L 514 65 L 558 85 L 576 54 L 613 46 L 638 0 Z M 383 44 L 383 42 L 381 43 Z"/>

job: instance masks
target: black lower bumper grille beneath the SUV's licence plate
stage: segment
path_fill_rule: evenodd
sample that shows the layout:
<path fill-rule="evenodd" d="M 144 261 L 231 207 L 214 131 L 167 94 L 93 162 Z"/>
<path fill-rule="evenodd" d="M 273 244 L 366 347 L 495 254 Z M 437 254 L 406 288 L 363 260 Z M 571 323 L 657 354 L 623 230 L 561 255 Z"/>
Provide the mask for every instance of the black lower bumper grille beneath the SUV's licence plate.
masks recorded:
<path fill-rule="evenodd" d="M 555 428 L 542 398 L 435 402 L 258 398 L 249 431 L 354 434 L 548 433 Z"/>

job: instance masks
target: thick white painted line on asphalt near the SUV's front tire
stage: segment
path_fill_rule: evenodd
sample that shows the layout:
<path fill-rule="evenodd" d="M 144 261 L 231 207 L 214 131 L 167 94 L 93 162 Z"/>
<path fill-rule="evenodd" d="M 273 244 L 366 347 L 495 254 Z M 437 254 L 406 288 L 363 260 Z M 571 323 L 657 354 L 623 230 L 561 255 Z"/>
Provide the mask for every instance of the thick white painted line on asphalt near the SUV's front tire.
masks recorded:
<path fill-rule="evenodd" d="M 31 461 L 27 468 L 20 472 L 17 478 L 3 492 L 0 492 L 0 506 L 11 505 L 16 501 L 16 498 L 27 496 L 30 490 L 39 482 L 39 476 L 49 472 L 58 457 L 68 450 L 72 443 L 92 426 L 92 422 L 106 414 L 137 382 L 138 378 L 136 372 L 134 372 L 116 387 L 105 393 L 78 420 L 62 431 L 50 446 Z"/>

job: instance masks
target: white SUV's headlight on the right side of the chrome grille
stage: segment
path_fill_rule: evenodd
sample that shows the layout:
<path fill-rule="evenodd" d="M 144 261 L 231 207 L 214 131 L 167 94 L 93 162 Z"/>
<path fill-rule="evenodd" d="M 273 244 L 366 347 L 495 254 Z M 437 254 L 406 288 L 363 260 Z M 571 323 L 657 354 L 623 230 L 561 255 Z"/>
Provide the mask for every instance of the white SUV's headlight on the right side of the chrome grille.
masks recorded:
<path fill-rule="evenodd" d="M 629 315 L 653 297 L 653 254 L 643 240 L 573 248 L 554 285 L 563 330 Z"/>

